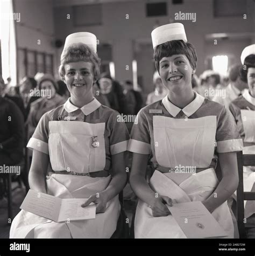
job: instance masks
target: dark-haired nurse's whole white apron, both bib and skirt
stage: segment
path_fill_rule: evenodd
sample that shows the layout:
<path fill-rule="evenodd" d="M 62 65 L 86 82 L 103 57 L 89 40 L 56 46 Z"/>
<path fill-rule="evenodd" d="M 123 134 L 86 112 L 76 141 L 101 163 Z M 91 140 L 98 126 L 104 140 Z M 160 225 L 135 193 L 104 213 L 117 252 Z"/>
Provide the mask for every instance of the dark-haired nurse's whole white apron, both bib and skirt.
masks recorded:
<path fill-rule="evenodd" d="M 214 156 L 216 116 L 199 119 L 173 119 L 153 116 L 155 156 L 162 167 L 208 168 Z M 213 168 L 195 175 L 164 173 L 155 170 L 150 185 L 159 195 L 177 203 L 202 201 L 216 189 L 218 180 Z M 234 227 L 227 202 L 217 207 L 212 216 L 233 238 Z M 172 215 L 153 217 L 151 208 L 138 202 L 134 222 L 136 238 L 186 238 Z"/>

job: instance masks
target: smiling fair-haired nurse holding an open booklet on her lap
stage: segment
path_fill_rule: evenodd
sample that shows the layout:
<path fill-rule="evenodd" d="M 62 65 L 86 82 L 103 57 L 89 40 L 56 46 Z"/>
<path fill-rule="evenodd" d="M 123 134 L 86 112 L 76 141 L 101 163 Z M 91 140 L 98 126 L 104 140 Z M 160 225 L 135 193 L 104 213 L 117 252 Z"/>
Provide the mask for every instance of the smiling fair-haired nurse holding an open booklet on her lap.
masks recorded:
<path fill-rule="evenodd" d="M 33 149 L 30 188 L 60 198 L 84 198 L 96 204 L 95 219 L 55 223 L 24 210 L 13 219 L 10 238 L 110 238 L 121 205 L 118 193 L 126 184 L 125 160 L 129 133 L 118 113 L 93 97 L 100 77 L 96 36 L 70 34 L 59 73 L 70 98 L 45 113 L 27 147 Z M 53 174 L 46 176 L 48 164 Z"/>

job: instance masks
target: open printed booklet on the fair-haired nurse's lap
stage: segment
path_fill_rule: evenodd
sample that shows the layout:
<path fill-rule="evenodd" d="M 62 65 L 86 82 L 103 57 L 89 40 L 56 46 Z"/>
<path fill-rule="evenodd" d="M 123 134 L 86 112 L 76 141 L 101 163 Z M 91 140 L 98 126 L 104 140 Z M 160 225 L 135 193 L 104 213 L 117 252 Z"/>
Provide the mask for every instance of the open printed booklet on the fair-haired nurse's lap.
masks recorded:
<path fill-rule="evenodd" d="M 54 222 L 68 222 L 68 220 L 95 219 L 96 205 L 81 207 L 86 198 L 61 199 L 29 190 L 20 209 L 35 215 L 54 220 Z"/>

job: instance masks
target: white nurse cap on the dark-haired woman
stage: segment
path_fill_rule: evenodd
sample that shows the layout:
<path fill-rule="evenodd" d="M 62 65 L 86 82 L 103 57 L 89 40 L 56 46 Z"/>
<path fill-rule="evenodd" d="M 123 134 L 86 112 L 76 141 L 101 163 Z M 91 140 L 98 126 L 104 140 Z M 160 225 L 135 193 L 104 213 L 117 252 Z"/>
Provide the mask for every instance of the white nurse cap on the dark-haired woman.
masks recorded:
<path fill-rule="evenodd" d="M 183 40 L 187 42 L 184 26 L 181 23 L 171 23 L 159 26 L 151 32 L 153 49 L 167 41 Z"/>

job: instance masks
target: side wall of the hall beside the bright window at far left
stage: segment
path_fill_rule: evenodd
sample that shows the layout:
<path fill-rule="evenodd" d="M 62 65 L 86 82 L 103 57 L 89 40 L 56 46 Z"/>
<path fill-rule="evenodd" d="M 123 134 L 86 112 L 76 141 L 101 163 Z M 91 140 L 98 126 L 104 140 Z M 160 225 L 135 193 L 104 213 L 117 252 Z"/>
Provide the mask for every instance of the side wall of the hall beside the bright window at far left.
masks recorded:
<path fill-rule="evenodd" d="M 53 0 L 14 0 L 13 5 L 14 12 L 20 13 L 20 22 L 16 23 L 19 80 L 24 74 L 24 56 L 19 50 L 21 48 L 52 53 L 56 70 Z"/>

